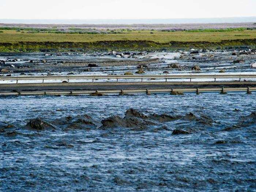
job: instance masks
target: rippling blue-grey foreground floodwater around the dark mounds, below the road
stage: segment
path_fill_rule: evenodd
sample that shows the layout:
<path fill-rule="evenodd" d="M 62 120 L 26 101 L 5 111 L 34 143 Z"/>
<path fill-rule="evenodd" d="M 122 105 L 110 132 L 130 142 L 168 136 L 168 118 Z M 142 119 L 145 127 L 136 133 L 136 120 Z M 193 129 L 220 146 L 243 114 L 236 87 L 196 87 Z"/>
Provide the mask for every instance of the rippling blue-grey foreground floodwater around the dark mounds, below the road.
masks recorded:
<path fill-rule="evenodd" d="M 0 191 L 254 191 L 256 122 L 243 117 L 256 110 L 255 101 L 245 93 L 0 98 L 0 121 L 17 127 L 0 131 Z M 180 118 L 140 131 L 99 129 L 101 120 L 124 117 L 129 108 L 192 112 L 212 123 Z M 38 116 L 78 114 L 91 116 L 97 128 L 24 128 Z M 173 135 L 177 128 L 193 132 Z"/>

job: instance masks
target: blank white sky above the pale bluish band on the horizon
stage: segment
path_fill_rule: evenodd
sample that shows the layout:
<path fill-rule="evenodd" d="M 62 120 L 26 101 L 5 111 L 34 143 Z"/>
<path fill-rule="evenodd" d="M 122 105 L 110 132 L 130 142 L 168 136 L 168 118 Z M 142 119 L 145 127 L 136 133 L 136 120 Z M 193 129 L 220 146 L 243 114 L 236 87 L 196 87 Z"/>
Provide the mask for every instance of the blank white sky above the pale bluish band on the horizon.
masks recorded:
<path fill-rule="evenodd" d="M 256 16 L 256 0 L 0 0 L 0 19 L 169 19 Z"/>

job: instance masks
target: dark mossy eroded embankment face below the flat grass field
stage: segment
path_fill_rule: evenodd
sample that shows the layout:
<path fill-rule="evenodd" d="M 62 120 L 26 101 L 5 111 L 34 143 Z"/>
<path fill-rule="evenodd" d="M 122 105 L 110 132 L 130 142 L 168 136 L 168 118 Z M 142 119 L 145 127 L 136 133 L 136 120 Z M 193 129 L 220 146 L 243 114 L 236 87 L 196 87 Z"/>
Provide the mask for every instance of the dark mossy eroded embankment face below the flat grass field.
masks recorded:
<path fill-rule="evenodd" d="M 188 48 L 226 48 L 226 47 L 256 47 L 256 39 L 223 40 L 218 42 L 170 41 L 159 43 L 154 41 L 95 41 L 95 42 L 17 42 L 0 43 L 0 52 L 47 52 L 60 50 L 173 50 Z"/>

